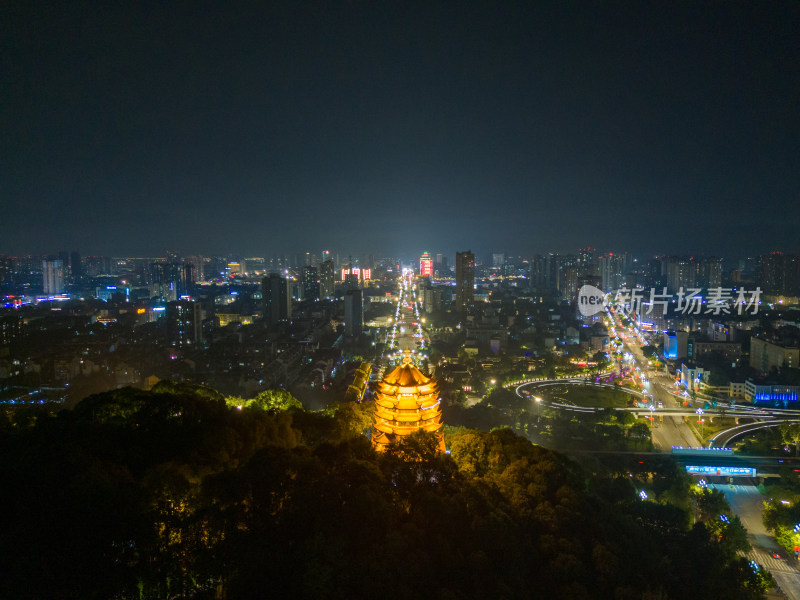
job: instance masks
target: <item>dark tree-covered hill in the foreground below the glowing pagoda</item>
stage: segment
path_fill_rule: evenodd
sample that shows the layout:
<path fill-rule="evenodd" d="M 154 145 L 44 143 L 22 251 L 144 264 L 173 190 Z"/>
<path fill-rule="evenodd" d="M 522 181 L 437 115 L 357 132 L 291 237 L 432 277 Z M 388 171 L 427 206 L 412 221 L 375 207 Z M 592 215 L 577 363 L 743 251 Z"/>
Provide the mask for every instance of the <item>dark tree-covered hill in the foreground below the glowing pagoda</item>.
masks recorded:
<path fill-rule="evenodd" d="M 160 384 L 6 413 L 0 597 L 761 597 L 666 488 L 642 501 L 508 430 L 376 455 L 369 406 L 229 405 Z"/>

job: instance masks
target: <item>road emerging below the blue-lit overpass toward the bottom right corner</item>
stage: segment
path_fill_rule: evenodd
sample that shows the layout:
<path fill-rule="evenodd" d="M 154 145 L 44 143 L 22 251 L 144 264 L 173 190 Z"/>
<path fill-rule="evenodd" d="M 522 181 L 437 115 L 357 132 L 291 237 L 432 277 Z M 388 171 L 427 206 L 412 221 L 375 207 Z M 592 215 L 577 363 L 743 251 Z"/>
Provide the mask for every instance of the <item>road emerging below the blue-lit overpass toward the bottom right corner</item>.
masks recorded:
<path fill-rule="evenodd" d="M 773 552 L 777 552 L 785 557 L 786 551 L 767 533 L 761 521 L 764 496 L 757 488 L 749 485 L 711 484 L 708 487 L 724 493 L 731 510 L 742 520 L 742 525 L 747 530 L 747 536 L 753 545 L 748 559 L 756 561 L 772 573 L 781 591 L 788 598 L 800 600 L 800 569 L 797 561 L 793 557 L 787 559 L 772 556 Z"/>

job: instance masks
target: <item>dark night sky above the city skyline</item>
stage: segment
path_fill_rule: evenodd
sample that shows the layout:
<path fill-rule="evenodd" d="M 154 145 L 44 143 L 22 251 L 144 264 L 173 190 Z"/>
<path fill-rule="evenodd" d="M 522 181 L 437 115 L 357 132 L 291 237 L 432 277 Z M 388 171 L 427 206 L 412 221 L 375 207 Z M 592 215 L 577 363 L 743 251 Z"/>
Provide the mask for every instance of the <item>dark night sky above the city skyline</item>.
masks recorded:
<path fill-rule="evenodd" d="M 0 252 L 797 250 L 800 3 L 3 3 Z"/>

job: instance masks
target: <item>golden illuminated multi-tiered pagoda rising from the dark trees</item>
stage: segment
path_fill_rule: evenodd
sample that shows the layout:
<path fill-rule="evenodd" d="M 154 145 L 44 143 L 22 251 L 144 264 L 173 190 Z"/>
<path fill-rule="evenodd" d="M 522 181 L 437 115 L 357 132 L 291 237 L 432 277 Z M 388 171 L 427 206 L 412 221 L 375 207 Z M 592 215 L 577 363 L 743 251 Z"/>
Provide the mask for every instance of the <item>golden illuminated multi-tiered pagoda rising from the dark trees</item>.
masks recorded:
<path fill-rule="evenodd" d="M 399 436 L 422 429 L 436 434 L 444 452 L 444 426 L 439 385 L 414 366 L 406 350 L 403 362 L 386 375 L 375 392 L 375 423 L 372 445 L 384 451 Z"/>

